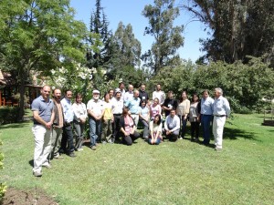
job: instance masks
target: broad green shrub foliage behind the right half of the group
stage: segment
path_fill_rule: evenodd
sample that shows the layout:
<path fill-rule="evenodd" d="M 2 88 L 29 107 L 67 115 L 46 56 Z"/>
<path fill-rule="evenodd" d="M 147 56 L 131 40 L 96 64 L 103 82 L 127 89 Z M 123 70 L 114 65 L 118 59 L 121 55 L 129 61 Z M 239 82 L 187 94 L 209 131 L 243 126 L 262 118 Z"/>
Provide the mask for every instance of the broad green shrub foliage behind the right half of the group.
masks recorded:
<path fill-rule="evenodd" d="M 161 83 L 163 89 L 173 90 L 177 97 L 182 90 L 190 95 L 202 93 L 204 89 L 221 87 L 231 107 L 239 113 L 256 111 L 267 106 L 261 99 L 274 98 L 272 84 L 274 72 L 261 58 L 250 57 L 248 64 L 221 61 L 196 66 L 188 62 L 181 67 L 165 67 L 151 79 L 153 84 Z M 211 93 L 213 95 L 213 93 Z"/>

